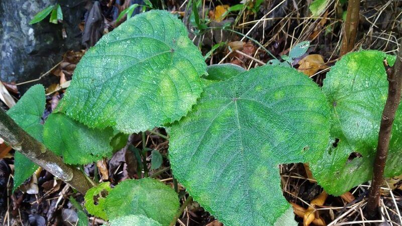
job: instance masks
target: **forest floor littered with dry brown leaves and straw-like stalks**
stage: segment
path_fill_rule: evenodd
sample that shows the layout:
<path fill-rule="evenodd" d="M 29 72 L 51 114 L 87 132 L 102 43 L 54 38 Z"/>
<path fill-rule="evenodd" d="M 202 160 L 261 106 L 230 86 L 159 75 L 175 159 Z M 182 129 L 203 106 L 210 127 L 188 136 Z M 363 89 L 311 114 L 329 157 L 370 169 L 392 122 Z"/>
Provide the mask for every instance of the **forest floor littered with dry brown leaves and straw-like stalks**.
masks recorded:
<path fill-rule="evenodd" d="M 116 3 L 115 1 L 100 2 L 102 2 L 102 14 L 105 17 L 102 26 L 104 33 L 107 33 L 120 24 L 116 22 L 116 14 L 111 13 Z M 126 9 L 130 1 L 126 2 L 116 9 L 119 12 Z M 188 30 L 195 33 L 197 28 L 191 24 L 188 17 L 188 11 L 191 10 L 191 7 L 188 7 L 189 2 L 191 1 L 158 1 L 156 7 L 178 14 Z M 244 1 L 248 2 L 248 8 L 235 12 L 229 12 L 228 7 L 240 4 L 240 1 L 200 2 L 202 6 L 198 10 L 202 21 L 208 21 L 210 27 L 222 27 L 229 23 L 231 28 L 237 31 L 234 33 L 229 30 L 210 30 L 203 35 L 190 35 L 194 44 L 202 49 L 203 54 L 210 55 L 207 60 L 209 65 L 233 63 L 250 69 L 264 65 L 272 59 L 266 50 L 280 58 L 281 55 L 288 54 L 296 43 L 309 40 L 311 44 L 308 52 L 294 59 L 292 66 L 322 85 L 326 72 L 339 58 L 346 1 L 328 0 L 328 5 L 317 17 L 312 17 L 309 9 L 310 0 Z M 261 4 L 256 6 L 257 3 Z M 395 54 L 402 34 L 401 14 L 402 4 L 398 1 L 361 1 L 354 50 L 375 49 Z M 96 37 L 91 38 L 96 39 Z M 75 65 L 84 52 L 84 49 L 69 51 L 64 56 L 60 56 L 62 61 L 54 68 L 49 68 L 48 72 L 43 71 L 42 80 L 56 76 L 59 81 L 46 87 L 48 95 L 44 119 L 62 98 L 64 88 L 68 87 Z M 4 84 L 15 98 L 21 96 L 18 85 Z M 159 150 L 162 156 L 166 157 L 168 149 L 166 132 L 163 129 L 155 129 L 155 132 L 162 136 L 147 133 L 145 146 Z M 139 148 L 142 147 L 143 142 L 141 134 L 134 134 L 129 138 L 129 143 Z M 82 204 L 83 196 L 74 193 L 71 187 L 56 180 L 48 172 L 38 170 L 21 189 L 12 193 L 13 156 L 14 151 L 0 142 L 0 187 L 6 188 L 0 190 L 0 224 L 75 225 L 77 213 L 72 208 L 68 197 L 72 195 Z M 183 202 L 186 197 L 185 188 L 177 184 L 170 171 L 167 158 L 163 159 L 161 167 L 151 171 L 150 175 L 156 173 L 155 178 L 175 187 L 180 192 L 181 202 Z M 150 158 L 147 160 L 150 164 Z M 133 153 L 123 148 L 111 159 L 88 164 L 84 166 L 84 169 L 95 180 L 117 184 L 127 178 L 142 177 L 143 173 L 137 172 L 136 164 Z M 366 201 L 362 197 L 367 193 L 368 183 L 361 184 L 342 196 L 334 197 L 326 195 L 317 185 L 308 165 L 302 163 L 281 165 L 280 169 L 283 194 L 292 203 L 297 215 L 296 220 L 300 225 L 303 225 L 305 214 L 310 210 L 315 218 L 309 223 L 310 225 L 369 225 L 380 223 L 383 219 L 390 220 L 393 225 L 402 224 L 400 215 L 402 182 L 398 178 L 388 180 L 388 185 L 382 190 L 383 215 L 378 219 L 367 219 L 363 215 Z M 312 201 L 315 203 L 319 201 L 320 204 L 313 206 Z M 104 223 L 102 219 L 95 217 L 90 217 L 89 222 L 92 225 Z M 221 225 L 221 223 L 196 202 L 192 202 L 184 210 L 176 225 L 212 226 Z"/>

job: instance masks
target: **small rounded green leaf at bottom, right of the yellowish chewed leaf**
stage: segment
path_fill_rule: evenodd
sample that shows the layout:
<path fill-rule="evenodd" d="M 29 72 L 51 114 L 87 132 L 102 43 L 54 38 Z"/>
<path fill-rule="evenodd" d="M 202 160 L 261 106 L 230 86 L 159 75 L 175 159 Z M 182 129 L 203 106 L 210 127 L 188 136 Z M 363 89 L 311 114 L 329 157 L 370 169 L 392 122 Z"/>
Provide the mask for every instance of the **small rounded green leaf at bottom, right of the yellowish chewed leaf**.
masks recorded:
<path fill-rule="evenodd" d="M 105 208 L 109 219 L 144 215 L 162 225 L 169 225 L 179 208 L 179 200 L 172 188 L 158 180 L 125 180 L 106 197 Z"/>

